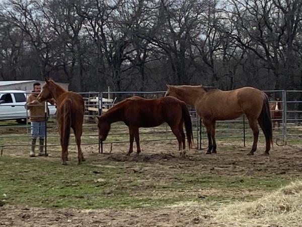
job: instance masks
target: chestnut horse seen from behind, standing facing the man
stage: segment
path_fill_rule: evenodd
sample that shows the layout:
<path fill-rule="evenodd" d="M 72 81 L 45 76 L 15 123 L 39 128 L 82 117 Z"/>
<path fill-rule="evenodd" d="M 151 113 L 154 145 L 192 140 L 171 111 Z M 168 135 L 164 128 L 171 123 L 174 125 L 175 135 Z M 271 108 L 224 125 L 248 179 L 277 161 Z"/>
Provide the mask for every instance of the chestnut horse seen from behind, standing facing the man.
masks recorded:
<path fill-rule="evenodd" d="M 70 127 L 73 129 L 75 142 L 78 145 L 79 164 L 85 161 L 81 150 L 81 136 L 84 118 L 84 101 L 80 94 L 66 91 L 53 80 L 45 79 L 38 101 L 42 102 L 54 98 L 57 104 L 56 118 L 59 125 L 60 144 L 62 147 L 62 164 L 66 165 L 68 160 L 68 143 Z"/>

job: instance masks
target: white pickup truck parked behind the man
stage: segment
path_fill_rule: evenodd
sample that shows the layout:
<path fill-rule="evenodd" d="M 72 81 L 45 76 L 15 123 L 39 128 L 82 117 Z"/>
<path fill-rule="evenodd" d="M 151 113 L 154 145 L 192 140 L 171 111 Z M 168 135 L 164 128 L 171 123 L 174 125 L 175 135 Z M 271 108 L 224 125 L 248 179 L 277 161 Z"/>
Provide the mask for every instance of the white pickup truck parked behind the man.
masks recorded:
<path fill-rule="evenodd" d="M 26 97 L 25 91 L 8 90 L 0 91 L 0 121 L 16 120 L 18 123 L 25 123 L 28 114 L 25 109 Z M 48 103 L 49 115 L 56 112 L 55 105 Z"/>

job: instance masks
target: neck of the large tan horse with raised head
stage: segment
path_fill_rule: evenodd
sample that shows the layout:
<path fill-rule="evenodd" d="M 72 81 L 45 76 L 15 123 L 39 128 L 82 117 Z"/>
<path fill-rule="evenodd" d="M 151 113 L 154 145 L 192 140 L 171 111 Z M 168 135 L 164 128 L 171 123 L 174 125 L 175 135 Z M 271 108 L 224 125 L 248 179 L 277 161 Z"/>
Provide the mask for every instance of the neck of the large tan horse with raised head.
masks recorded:
<path fill-rule="evenodd" d="M 201 87 L 180 87 L 176 90 L 176 93 L 182 98 L 184 102 L 194 106 L 196 101 L 200 99 L 205 92 Z"/>

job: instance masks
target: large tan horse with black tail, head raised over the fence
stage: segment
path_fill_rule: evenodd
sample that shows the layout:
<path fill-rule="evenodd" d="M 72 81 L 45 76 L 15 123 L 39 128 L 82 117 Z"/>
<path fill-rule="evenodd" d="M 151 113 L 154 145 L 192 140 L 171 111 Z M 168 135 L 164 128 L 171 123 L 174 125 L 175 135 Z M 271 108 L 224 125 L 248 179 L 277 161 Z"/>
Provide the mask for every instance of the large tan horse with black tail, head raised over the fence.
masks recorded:
<path fill-rule="evenodd" d="M 216 153 L 216 121 L 235 119 L 243 113 L 247 116 L 254 135 L 254 143 L 249 155 L 253 155 L 257 149 L 259 135 L 257 122 L 265 135 L 266 149 L 264 154 L 269 154 L 272 144 L 272 123 L 268 97 L 265 93 L 252 87 L 221 91 L 217 88 L 203 86 L 167 86 L 166 96 L 175 96 L 195 107 L 206 127 L 207 154 L 210 154 L 211 151 Z"/>

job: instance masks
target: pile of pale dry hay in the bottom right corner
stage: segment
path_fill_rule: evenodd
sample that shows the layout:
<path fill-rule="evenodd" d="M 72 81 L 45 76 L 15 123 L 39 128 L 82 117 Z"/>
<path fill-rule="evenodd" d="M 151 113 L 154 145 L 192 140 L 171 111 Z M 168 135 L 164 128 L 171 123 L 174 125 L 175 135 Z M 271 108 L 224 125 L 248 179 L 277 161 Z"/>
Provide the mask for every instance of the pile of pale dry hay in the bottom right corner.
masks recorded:
<path fill-rule="evenodd" d="M 302 181 L 253 202 L 236 202 L 210 213 L 217 226 L 302 226 Z"/>

